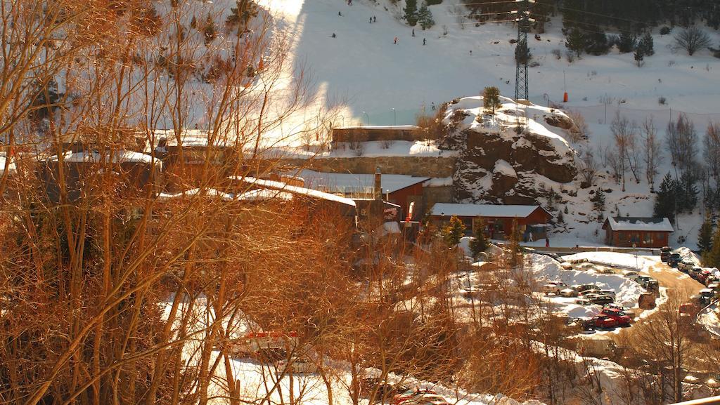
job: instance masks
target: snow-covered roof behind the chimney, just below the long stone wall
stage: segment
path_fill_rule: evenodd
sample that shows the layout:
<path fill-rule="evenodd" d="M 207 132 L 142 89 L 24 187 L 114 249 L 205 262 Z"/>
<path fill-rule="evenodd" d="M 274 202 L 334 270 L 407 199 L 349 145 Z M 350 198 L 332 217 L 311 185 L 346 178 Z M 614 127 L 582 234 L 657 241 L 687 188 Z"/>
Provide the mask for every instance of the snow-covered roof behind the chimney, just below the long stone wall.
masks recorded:
<path fill-rule="evenodd" d="M 314 170 L 300 170 L 296 176 L 305 181 L 305 187 L 320 189 L 331 193 L 346 193 L 349 191 L 363 191 L 372 188 L 375 183 L 374 174 L 326 173 Z M 383 193 L 394 193 L 402 188 L 414 186 L 430 180 L 429 177 L 415 177 L 401 174 L 383 174 L 380 177 L 380 187 Z"/>

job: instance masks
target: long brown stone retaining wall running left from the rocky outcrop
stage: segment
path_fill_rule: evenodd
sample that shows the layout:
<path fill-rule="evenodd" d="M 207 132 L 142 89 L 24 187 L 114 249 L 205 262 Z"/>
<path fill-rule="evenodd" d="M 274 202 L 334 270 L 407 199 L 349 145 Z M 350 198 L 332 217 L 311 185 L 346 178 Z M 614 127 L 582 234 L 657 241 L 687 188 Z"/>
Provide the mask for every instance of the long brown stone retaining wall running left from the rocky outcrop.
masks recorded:
<path fill-rule="evenodd" d="M 405 174 L 420 177 L 451 177 L 457 158 L 427 156 L 384 156 L 379 158 L 282 159 L 281 165 L 333 173 L 375 173 L 379 167 L 384 174 Z"/>

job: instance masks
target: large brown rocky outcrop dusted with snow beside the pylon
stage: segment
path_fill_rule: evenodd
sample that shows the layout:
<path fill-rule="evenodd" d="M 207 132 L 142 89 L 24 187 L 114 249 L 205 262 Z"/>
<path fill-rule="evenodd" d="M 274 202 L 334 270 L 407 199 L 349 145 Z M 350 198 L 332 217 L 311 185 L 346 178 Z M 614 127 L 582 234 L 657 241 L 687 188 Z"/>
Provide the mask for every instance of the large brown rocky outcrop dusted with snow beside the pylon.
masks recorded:
<path fill-rule="evenodd" d="M 460 152 L 454 173 L 459 201 L 534 204 L 545 186 L 569 183 L 577 175 L 570 145 L 525 116 L 561 128 L 572 126 L 572 120 L 558 110 L 505 101 L 494 115 L 483 111 L 481 97 L 448 105 L 445 123 L 451 139 L 445 144 Z"/>

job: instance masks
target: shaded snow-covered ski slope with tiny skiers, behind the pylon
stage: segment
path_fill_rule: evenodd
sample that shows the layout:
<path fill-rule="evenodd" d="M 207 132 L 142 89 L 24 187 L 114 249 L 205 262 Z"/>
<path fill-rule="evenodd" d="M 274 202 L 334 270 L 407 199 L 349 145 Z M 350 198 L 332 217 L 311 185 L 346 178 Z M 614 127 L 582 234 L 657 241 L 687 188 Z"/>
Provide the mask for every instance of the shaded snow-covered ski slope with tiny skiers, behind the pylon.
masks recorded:
<path fill-rule="evenodd" d="M 354 0 L 352 6 L 345 0 L 266 1 L 294 22 L 296 65 L 310 68 L 318 91 L 328 101 L 347 104 L 356 121 L 410 124 L 422 104 L 429 111 L 432 103 L 472 96 L 485 86 L 498 86 L 506 96 L 514 94 L 515 45 L 509 40 L 516 37 L 516 27 L 459 24 L 456 16 L 467 14 L 456 6 L 459 0 L 431 6 L 436 25 L 426 31 L 414 27 L 415 37 L 413 28 L 397 18 L 404 1 L 394 5 L 389 0 L 377 0 L 377 4 Z M 377 22 L 371 24 L 373 16 Z M 443 35 L 444 27 L 447 35 Z M 694 117 L 698 120 L 720 119 L 716 104 L 720 60 L 708 50 L 690 57 L 672 49 L 673 34 L 679 28 L 664 36 L 656 29 L 656 53 L 638 68 L 632 53 L 620 55 L 617 50 L 604 56 L 583 55 L 573 63 L 564 56 L 557 60 L 552 51 L 561 50 L 563 55 L 566 51 L 561 27 L 562 22 L 554 19 L 546 24 L 541 40 L 532 35 L 528 40 L 533 60 L 540 64 L 529 70 L 530 99 L 536 104 L 545 104 L 547 98 L 562 101 L 567 88 L 567 105 L 584 106 L 590 122 L 604 121 L 604 100 L 610 101 L 608 124 L 622 100 L 626 102 L 620 106 L 635 119 L 645 113 L 631 109 L 654 110 L 657 119 L 665 119 L 671 108 L 710 114 Z M 720 34 L 710 33 L 714 45 L 720 44 Z M 661 96 L 667 100 L 664 106 L 658 104 Z M 344 117 L 346 124 L 351 117 Z"/>

